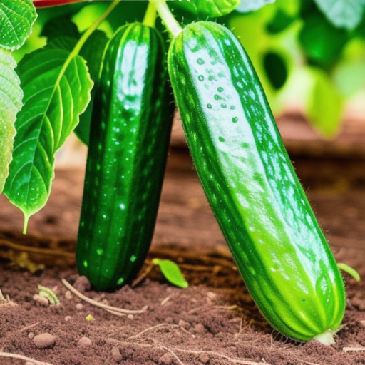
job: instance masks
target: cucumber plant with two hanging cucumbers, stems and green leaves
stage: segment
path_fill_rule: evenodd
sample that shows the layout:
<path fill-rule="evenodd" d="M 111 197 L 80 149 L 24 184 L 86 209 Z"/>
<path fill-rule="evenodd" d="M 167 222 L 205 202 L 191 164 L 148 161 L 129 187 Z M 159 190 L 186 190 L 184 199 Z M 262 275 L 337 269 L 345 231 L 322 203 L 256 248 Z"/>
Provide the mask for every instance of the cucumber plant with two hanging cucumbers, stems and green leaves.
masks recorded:
<path fill-rule="evenodd" d="M 356 35 L 364 37 L 363 4 L 350 9 L 356 16 L 350 11 L 341 21 L 324 1 L 315 2 L 317 12 L 328 12 L 318 19 L 345 27 L 346 40 L 339 49 Z M 121 11 L 115 9 L 121 9 L 120 3 L 129 6 L 127 24 L 118 23 Z M 39 46 L 39 37 L 32 43 L 37 36 L 24 46 L 36 29 L 36 16 L 50 14 L 36 11 L 34 4 L 67 4 L 64 35 L 48 37 L 46 46 Z M 145 19 L 138 19 L 131 4 L 98 3 L 94 10 L 100 14 L 78 34 L 74 24 L 68 32 L 67 21 L 85 5 L 79 0 L 0 2 L 0 192 L 24 212 L 26 232 L 29 217 L 50 194 L 55 154 L 83 115 L 88 160 L 78 272 L 99 290 L 128 282 L 143 264 L 155 226 L 171 128 L 170 76 L 202 186 L 262 314 L 293 339 L 331 343 L 344 316 L 343 279 L 294 173 L 255 68 L 237 38 L 219 24 L 240 30 L 237 21 L 245 21 L 240 13 L 254 10 L 250 2 L 154 0 L 146 6 Z M 339 1 L 339 9 L 344 7 L 346 1 Z M 162 23 L 155 24 L 156 9 Z M 62 12 L 60 6 L 57 11 Z M 306 6 L 298 10 L 304 22 L 312 19 L 309 11 Z M 114 23 L 107 23 L 111 13 Z M 287 15 L 271 19 L 274 26 L 267 29 L 277 33 L 287 28 L 295 17 Z M 202 18 L 217 22 L 196 21 Z M 110 24 L 115 19 L 114 29 Z M 176 19 L 184 19 L 186 26 Z M 109 40 L 103 56 L 98 52 L 96 57 L 90 50 L 103 42 L 91 35 L 102 27 L 108 31 L 102 38 Z M 173 38 L 168 57 L 161 35 L 165 28 Z M 311 37 L 304 32 L 299 38 L 309 56 Z M 337 53 L 318 64 L 334 67 Z M 265 54 L 270 55 L 264 63 L 269 70 L 279 58 Z M 279 61 L 283 76 L 274 80 L 277 89 L 287 78 L 286 64 Z M 176 267 L 163 260 L 155 264 L 171 282 L 187 286 Z"/>

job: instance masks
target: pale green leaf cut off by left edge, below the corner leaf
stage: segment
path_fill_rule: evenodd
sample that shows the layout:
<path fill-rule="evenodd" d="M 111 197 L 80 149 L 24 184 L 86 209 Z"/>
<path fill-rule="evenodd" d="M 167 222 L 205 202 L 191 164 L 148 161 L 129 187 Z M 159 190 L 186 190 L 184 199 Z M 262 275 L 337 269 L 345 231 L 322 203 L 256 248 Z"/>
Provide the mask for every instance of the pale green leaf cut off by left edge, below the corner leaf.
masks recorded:
<path fill-rule="evenodd" d="M 0 48 L 0 193 L 9 174 L 9 163 L 16 134 L 16 114 L 23 106 L 23 91 L 15 73 L 13 56 Z"/>

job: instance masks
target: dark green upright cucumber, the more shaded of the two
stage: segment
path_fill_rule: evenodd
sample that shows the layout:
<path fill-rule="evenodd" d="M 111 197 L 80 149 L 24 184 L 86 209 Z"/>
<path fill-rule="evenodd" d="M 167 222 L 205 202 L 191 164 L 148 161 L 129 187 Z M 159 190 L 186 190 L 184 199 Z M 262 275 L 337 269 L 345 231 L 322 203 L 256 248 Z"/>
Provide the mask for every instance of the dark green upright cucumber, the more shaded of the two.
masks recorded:
<path fill-rule="evenodd" d="M 106 47 L 91 120 L 78 273 L 98 290 L 130 281 L 153 237 L 172 110 L 160 34 L 133 23 Z"/>

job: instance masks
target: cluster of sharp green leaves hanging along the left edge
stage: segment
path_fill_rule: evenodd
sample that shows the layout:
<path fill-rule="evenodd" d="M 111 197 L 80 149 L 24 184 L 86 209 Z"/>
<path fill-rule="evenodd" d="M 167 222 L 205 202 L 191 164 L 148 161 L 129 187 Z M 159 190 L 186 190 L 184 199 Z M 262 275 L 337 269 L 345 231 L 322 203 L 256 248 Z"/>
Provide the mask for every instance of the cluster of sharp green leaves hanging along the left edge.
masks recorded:
<path fill-rule="evenodd" d="M 0 45 L 0 192 L 24 212 L 25 232 L 29 217 L 48 200 L 56 151 L 78 125 L 93 81 L 69 19 L 49 21 L 41 34 L 48 45 L 16 65 L 10 51 L 30 36 L 36 9 L 30 0 L 11 0 L 2 1 L 0 11 L 6 31 Z"/>

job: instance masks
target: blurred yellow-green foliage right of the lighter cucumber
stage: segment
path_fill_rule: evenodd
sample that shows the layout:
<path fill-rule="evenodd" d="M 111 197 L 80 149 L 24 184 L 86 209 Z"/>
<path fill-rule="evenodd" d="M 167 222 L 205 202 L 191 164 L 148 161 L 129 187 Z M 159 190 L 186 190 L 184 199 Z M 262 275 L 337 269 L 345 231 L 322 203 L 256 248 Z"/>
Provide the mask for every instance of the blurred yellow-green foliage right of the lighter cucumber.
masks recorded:
<path fill-rule="evenodd" d="M 346 103 L 364 92 L 365 2 L 277 0 L 258 10 L 249 3 L 224 22 L 249 53 L 274 113 L 294 103 L 319 135 L 335 137 Z"/>

